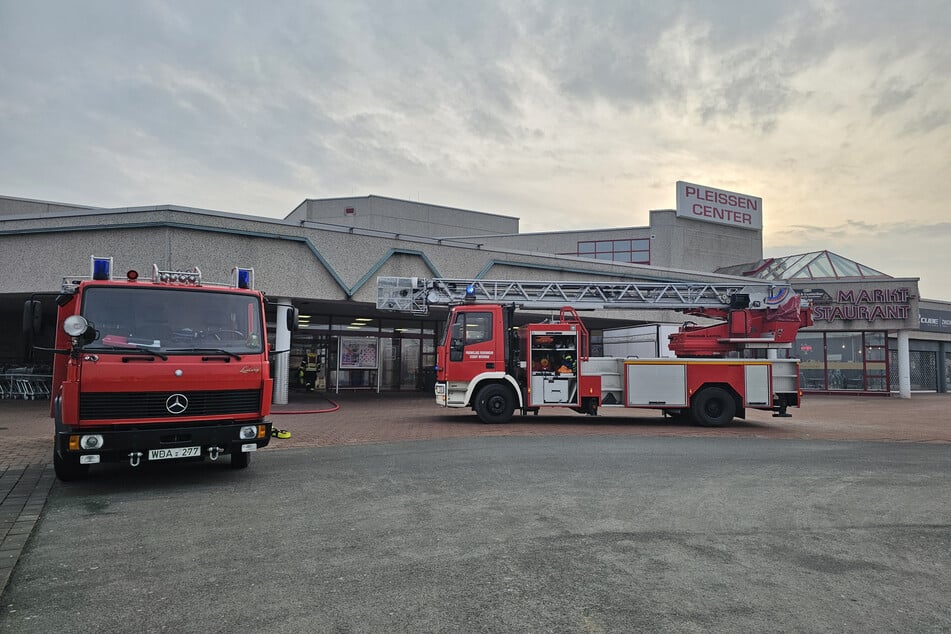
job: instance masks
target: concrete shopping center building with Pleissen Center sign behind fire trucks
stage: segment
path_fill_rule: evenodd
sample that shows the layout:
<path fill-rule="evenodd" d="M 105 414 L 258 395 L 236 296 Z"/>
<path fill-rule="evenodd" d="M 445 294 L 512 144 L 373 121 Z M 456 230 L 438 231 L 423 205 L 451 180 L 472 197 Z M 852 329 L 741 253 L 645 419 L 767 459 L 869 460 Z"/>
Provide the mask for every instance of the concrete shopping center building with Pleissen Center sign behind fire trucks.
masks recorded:
<path fill-rule="evenodd" d="M 762 201 L 677 184 L 677 208 L 643 227 L 521 233 L 517 217 L 381 196 L 303 201 L 283 219 L 175 205 L 106 209 L 0 197 L 0 369 L 43 375 L 50 360 L 21 336 L 23 304 L 85 275 L 90 256 L 143 274 L 199 267 L 226 281 L 255 270 L 272 306 L 292 304 L 301 328 L 286 362 L 290 389 L 302 368 L 319 390 L 427 390 L 445 310 L 376 309 L 378 276 L 505 280 L 735 282 L 785 280 L 814 307 L 789 356 L 802 359 L 805 391 L 910 396 L 946 392 L 951 303 L 919 297 L 917 278 L 895 278 L 823 250 L 763 257 Z M 270 320 L 276 320 L 271 309 Z M 51 316 L 52 317 L 52 316 Z M 537 318 L 526 314 L 524 320 Z M 672 311 L 585 313 L 592 355 L 605 329 L 676 323 Z M 52 319 L 45 320 L 47 323 Z M 274 323 L 271 324 L 274 328 Z M 50 336 L 51 333 L 46 333 Z M 341 354 L 359 349 L 359 360 Z M 286 394 L 284 395 L 286 398 Z M 279 398 L 280 395 L 276 394 Z"/>

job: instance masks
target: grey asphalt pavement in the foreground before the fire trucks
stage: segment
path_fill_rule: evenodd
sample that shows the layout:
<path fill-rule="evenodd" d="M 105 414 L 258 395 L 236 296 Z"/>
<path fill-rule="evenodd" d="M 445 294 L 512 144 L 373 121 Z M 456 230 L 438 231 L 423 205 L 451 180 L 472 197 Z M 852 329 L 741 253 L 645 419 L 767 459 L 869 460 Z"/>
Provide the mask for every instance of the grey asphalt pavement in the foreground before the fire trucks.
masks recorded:
<path fill-rule="evenodd" d="M 948 631 L 945 444 L 492 437 L 53 487 L 16 632 Z"/>

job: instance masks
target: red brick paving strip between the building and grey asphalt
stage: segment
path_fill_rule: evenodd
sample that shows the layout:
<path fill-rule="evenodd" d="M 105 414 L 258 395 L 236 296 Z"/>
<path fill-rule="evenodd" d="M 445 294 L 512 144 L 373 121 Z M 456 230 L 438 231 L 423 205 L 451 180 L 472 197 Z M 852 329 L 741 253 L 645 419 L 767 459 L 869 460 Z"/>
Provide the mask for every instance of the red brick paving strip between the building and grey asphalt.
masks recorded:
<path fill-rule="evenodd" d="M 326 400 L 329 399 L 329 400 Z M 310 409 L 336 411 L 281 414 Z M 275 406 L 271 420 L 292 437 L 273 438 L 265 451 L 475 436 L 630 435 L 731 436 L 903 442 L 951 442 L 951 394 L 914 394 L 911 399 L 807 396 L 792 418 L 750 411 L 746 421 L 724 428 L 667 422 L 653 410 L 602 409 L 597 417 L 548 409 L 516 416 L 506 425 L 485 425 L 470 410 L 444 409 L 428 395 L 348 393 L 292 394 Z M 47 464 L 53 423 L 46 401 L 0 401 L 0 469 Z"/>

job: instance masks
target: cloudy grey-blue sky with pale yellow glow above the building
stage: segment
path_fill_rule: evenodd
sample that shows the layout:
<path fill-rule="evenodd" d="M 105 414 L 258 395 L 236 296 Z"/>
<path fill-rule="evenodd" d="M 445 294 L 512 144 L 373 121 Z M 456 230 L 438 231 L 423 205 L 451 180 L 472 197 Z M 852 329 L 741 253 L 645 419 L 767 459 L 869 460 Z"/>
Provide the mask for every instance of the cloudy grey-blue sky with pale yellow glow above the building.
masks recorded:
<path fill-rule="evenodd" d="M 951 2 L 0 0 L 0 194 L 644 226 L 686 180 L 951 300 Z"/>

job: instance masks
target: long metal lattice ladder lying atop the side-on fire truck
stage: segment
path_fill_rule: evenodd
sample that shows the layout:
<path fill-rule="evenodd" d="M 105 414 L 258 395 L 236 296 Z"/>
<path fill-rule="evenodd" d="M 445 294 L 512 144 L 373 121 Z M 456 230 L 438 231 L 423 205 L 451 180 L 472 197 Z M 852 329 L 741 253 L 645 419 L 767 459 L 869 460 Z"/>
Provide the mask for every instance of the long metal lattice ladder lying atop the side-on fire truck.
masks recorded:
<path fill-rule="evenodd" d="M 514 304 L 528 309 L 640 308 L 775 309 L 789 298 L 786 284 L 745 282 L 576 282 L 377 278 L 376 307 L 426 314 L 429 306 Z"/>

